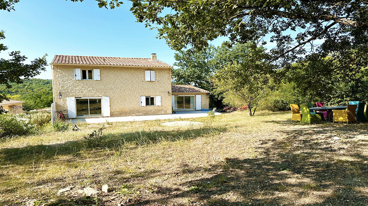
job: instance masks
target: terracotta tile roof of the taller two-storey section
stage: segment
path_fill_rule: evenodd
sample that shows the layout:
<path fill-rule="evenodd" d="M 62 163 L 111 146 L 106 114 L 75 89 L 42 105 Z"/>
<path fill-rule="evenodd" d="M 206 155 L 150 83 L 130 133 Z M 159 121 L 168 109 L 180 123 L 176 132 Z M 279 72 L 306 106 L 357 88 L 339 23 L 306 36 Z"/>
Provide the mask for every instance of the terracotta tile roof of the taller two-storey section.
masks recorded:
<path fill-rule="evenodd" d="M 151 58 L 125 58 L 104 56 L 69 56 L 55 55 L 51 64 L 86 64 L 86 65 L 114 65 L 114 66 L 139 66 L 139 67 L 170 67 L 162 61 Z"/>

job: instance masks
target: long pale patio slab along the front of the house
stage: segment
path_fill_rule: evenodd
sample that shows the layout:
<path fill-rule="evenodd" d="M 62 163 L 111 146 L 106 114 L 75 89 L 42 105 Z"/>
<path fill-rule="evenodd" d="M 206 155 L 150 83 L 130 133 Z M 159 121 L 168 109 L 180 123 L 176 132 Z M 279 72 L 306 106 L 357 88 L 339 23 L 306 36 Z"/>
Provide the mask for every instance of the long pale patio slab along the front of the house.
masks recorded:
<path fill-rule="evenodd" d="M 99 118 L 78 118 L 72 119 L 72 123 L 85 122 L 88 124 L 106 123 L 106 122 L 132 122 L 132 121 L 146 121 L 146 120 L 166 120 L 179 118 L 196 118 L 207 117 L 208 111 L 177 111 L 176 114 L 162 114 L 162 115 L 147 115 L 147 116 L 128 116 L 128 117 L 99 117 Z M 219 112 L 214 112 L 215 115 L 220 115 Z"/>

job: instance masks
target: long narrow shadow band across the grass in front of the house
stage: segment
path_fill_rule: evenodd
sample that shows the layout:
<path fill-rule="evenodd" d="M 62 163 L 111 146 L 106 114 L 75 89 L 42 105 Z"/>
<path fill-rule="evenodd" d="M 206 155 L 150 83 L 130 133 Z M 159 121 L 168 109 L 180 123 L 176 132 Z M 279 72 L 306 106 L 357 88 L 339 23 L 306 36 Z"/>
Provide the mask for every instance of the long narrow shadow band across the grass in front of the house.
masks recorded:
<path fill-rule="evenodd" d="M 55 145 L 29 145 L 22 148 L 5 148 L 0 150 L 0 164 L 32 165 L 35 161 L 55 159 L 63 155 L 74 155 L 78 158 L 81 151 L 98 148 L 119 149 L 126 144 L 144 146 L 162 141 L 181 141 L 193 139 L 204 135 L 214 135 L 225 131 L 225 127 L 199 128 L 171 131 L 139 131 L 130 133 L 105 134 L 101 139 L 86 141 L 68 141 Z M 97 148 L 97 149 L 98 149 Z"/>

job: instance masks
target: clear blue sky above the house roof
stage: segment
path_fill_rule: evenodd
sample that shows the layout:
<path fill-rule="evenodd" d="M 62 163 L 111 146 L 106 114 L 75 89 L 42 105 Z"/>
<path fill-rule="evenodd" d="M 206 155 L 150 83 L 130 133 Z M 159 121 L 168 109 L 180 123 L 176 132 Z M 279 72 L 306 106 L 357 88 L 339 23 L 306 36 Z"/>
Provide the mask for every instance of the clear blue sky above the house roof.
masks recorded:
<path fill-rule="evenodd" d="M 51 63 L 56 54 L 151 58 L 157 53 L 158 60 L 173 65 L 175 51 L 156 38 L 157 30 L 136 22 L 130 7 L 130 1 L 106 9 L 95 0 L 20 0 L 15 11 L 0 10 L 0 30 L 6 37 L 1 43 L 8 47 L 0 58 L 20 51 L 28 57 L 26 63 L 45 54 Z M 51 79 L 51 66 L 46 69 L 35 78 Z"/>

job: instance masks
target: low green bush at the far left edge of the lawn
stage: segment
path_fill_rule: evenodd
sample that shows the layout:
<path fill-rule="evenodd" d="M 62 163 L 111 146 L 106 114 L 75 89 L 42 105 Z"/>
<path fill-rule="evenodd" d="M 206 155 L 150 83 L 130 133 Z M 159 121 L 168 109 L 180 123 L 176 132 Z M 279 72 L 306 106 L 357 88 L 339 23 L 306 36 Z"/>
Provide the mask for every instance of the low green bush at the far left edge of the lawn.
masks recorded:
<path fill-rule="evenodd" d="M 35 129 L 28 119 L 12 114 L 0 114 L 0 136 L 25 135 Z"/>

